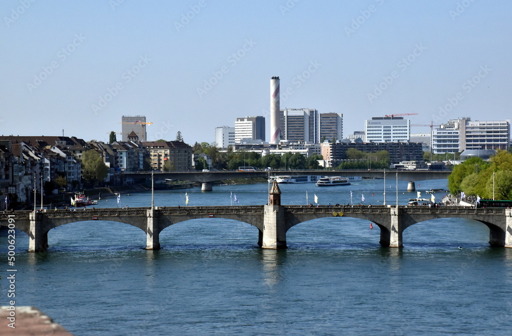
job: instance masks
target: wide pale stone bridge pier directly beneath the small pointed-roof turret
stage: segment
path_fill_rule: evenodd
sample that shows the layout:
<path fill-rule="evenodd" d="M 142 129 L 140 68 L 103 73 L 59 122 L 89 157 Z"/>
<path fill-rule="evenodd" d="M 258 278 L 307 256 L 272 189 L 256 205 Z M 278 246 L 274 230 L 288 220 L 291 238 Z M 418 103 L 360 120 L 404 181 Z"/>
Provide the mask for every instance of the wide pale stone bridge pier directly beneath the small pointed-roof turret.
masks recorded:
<path fill-rule="evenodd" d="M 284 207 L 281 205 L 265 205 L 263 208 L 264 217 L 261 247 L 273 249 L 286 248 L 286 221 Z"/>

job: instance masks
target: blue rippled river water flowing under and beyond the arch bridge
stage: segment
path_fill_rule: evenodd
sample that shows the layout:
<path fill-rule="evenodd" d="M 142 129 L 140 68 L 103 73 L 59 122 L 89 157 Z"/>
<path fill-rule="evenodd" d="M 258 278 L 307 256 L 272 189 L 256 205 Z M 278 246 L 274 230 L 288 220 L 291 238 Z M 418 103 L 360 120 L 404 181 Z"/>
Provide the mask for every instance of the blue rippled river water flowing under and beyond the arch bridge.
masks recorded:
<path fill-rule="evenodd" d="M 416 197 L 407 182 L 398 193 L 394 180 L 386 183 L 387 203 Z M 425 190 L 446 183 L 416 186 L 428 198 Z M 366 204 L 383 202 L 382 180 L 280 187 L 282 204 L 306 204 L 306 191 L 321 204 L 350 203 L 351 191 L 354 204 L 363 195 Z M 234 195 L 240 205 L 265 204 L 268 185 L 187 193 L 193 206 L 229 205 Z M 98 207 L 116 205 L 110 198 Z M 121 205 L 149 206 L 151 193 L 122 195 Z M 184 206 L 185 191 L 155 192 L 155 205 Z M 260 249 L 257 228 L 216 218 L 166 228 L 154 251 L 143 249 L 142 230 L 115 222 L 63 225 L 48 237 L 48 253 L 33 254 L 16 233 L 16 305 L 38 307 L 77 336 L 509 335 L 512 325 L 512 250 L 489 247 L 476 221 L 415 224 L 401 249 L 380 247 L 378 227 L 353 218 L 296 225 L 286 250 Z M 7 256 L 5 230 L 0 240 Z"/>

